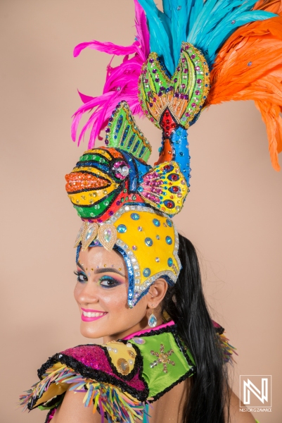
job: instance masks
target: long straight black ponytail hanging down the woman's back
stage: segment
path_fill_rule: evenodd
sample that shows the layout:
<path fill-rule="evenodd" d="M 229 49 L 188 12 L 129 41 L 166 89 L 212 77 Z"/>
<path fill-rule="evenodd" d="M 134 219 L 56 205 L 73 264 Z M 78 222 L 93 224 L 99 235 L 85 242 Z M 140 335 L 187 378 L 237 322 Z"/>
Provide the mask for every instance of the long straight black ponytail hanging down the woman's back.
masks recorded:
<path fill-rule="evenodd" d="M 226 364 L 205 303 L 196 250 L 182 235 L 179 258 L 182 269 L 175 286 L 167 290 L 163 309 L 177 324 L 196 362 L 196 374 L 188 379 L 182 423 L 224 423 L 225 406 L 229 416 Z"/>

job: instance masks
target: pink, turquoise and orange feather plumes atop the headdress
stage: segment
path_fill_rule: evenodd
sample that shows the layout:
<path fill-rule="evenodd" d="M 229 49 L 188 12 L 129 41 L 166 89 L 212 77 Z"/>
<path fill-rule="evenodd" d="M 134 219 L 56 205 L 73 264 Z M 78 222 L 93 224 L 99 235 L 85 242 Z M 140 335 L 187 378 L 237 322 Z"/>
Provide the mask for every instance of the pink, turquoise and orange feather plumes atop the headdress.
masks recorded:
<path fill-rule="evenodd" d="M 117 102 L 121 100 L 129 104 L 133 114 L 140 116 L 145 112 L 152 120 L 149 107 L 142 104 L 141 109 L 139 78 L 150 54 L 156 55 L 162 73 L 167 76 L 167 80 L 171 78 L 173 82 L 165 89 L 174 85 L 173 94 L 177 92 L 177 88 L 180 88 L 179 96 L 184 94 L 178 82 L 185 83 L 185 81 L 177 81 L 176 87 L 174 80 L 179 75 L 175 78 L 172 76 L 179 68 L 181 44 L 187 42 L 192 49 L 196 48 L 199 54 L 203 54 L 210 70 L 207 95 L 203 95 L 205 98 L 200 99 L 200 111 L 210 104 L 231 99 L 255 100 L 267 125 L 272 165 L 279 170 L 278 153 L 282 149 L 281 1 L 256 3 L 254 0 L 163 0 L 163 11 L 158 9 L 153 0 L 139 0 L 139 2 L 134 0 L 134 3 L 137 35 L 131 46 L 121 47 L 112 43 L 92 41 L 79 44 L 75 48 L 75 56 L 82 49 L 89 47 L 108 54 L 124 56 L 124 60 L 115 68 L 108 66 L 101 96 L 88 97 L 80 94 L 84 105 L 75 113 L 72 139 L 76 139 L 77 126 L 82 115 L 86 111 L 92 111 L 89 121 L 79 135 L 79 142 L 86 130 L 91 129 L 89 148 L 93 147 L 101 130 L 107 125 Z M 131 54 L 134 56 L 129 58 Z M 181 75 L 182 71 L 184 67 L 180 69 Z M 187 73 L 191 75 L 191 68 L 188 68 Z M 190 87 L 186 92 L 194 94 L 198 99 L 195 92 L 200 90 L 196 85 L 193 88 L 191 90 Z M 186 99 L 187 97 L 184 97 L 184 100 Z M 150 96 L 147 100 L 150 104 Z M 151 100 L 153 101 L 153 97 Z M 191 104 L 189 106 L 193 113 L 189 113 L 188 110 L 185 113 L 193 116 L 187 115 L 185 122 L 177 122 L 180 127 L 187 128 L 198 118 L 200 111 L 198 108 L 192 108 Z M 153 122 L 160 126 L 160 120 L 154 117 Z"/>

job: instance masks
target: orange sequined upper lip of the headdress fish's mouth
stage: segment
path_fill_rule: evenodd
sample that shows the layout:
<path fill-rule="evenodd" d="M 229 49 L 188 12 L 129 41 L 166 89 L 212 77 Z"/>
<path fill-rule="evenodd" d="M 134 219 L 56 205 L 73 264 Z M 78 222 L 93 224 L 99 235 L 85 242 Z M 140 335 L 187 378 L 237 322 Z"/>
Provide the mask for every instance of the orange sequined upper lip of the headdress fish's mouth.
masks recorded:
<path fill-rule="evenodd" d="M 107 180 L 97 178 L 90 173 L 73 172 L 65 176 L 67 192 L 76 192 L 81 190 L 91 190 L 109 186 Z"/>

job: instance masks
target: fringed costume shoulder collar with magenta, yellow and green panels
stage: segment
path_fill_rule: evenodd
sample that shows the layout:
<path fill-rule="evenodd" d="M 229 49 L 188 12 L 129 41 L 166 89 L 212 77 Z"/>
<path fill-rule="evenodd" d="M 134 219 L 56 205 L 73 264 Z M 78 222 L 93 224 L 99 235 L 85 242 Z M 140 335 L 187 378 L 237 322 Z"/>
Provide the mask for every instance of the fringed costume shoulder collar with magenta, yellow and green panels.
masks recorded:
<path fill-rule="evenodd" d="M 214 323 L 225 361 L 234 348 Z M 25 408 L 49 410 L 46 423 L 68 388 L 85 393 L 84 405 L 109 422 L 146 422 L 148 403 L 195 374 L 196 364 L 173 321 L 105 345 L 78 345 L 53 355 L 38 370 L 40 381 L 20 398 Z M 70 384 L 72 386 L 70 387 Z"/>

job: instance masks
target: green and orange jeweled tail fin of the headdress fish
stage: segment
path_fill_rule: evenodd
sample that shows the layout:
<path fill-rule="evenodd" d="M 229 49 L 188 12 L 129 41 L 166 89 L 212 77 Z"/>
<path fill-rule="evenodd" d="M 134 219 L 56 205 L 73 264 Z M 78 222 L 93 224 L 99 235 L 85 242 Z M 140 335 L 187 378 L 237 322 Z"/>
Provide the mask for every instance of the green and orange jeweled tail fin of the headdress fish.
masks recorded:
<path fill-rule="evenodd" d="M 205 56 L 187 42 L 182 43 L 179 63 L 171 79 L 155 53 L 149 55 L 139 79 L 142 109 L 158 128 L 167 108 L 179 125 L 188 128 L 203 108 L 209 90 L 210 72 Z"/>

